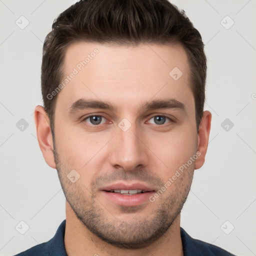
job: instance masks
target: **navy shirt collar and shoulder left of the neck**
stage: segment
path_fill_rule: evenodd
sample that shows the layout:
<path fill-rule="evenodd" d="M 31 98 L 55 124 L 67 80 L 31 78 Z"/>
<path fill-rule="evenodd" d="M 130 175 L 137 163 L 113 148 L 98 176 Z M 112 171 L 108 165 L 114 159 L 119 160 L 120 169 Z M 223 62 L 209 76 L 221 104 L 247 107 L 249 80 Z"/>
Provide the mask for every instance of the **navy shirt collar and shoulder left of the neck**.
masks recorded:
<path fill-rule="evenodd" d="M 14 256 L 49 256 L 59 255 L 67 256 L 64 246 L 64 234 L 65 234 L 65 219 L 60 223 L 55 235 L 48 240 L 37 244 L 25 251 L 22 251 Z"/>

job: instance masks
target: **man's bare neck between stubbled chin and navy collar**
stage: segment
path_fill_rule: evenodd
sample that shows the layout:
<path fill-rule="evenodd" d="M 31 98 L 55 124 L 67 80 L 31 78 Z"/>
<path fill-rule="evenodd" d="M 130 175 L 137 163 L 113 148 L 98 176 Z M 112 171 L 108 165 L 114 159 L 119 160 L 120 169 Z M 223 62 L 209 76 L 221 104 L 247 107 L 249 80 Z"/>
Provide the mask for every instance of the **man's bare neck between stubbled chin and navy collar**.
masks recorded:
<path fill-rule="evenodd" d="M 123 249 L 108 244 L 88 230 L 66 201 L 65 250 L 68 256 L 183 256 L 179 226 L 180 214 L 174 219 L 168 230 L 148 246 L 139 249 Z"/>

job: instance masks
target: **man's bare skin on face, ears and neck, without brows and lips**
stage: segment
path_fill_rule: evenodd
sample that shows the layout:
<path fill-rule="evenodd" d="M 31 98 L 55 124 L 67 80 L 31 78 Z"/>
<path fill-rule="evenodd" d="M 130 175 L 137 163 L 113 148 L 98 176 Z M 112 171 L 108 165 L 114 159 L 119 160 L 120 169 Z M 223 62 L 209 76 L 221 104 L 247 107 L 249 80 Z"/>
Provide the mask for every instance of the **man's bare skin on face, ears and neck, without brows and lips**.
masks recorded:
<path fill-rule="evenodd" d="M 204 111 L 197 132 L 185 50 L 178 44 L 127 47 L 76 42 L 66 50 L 66 75 L 94 48 L 99 50 L 95 57 L 57 94 L 54 143 L 44 108 L 37 105 L 34 113 L 43 157 L 57 169 L 66 196 L 66 252 L 183 255 L 180 210 L 194 169 L 204 163 L 211 122 L 211 113 Z M 176 81 L 169 75 L 175 66 L 183 73 Z M 88 108 L 70 114 L 68 107 L 79 98 L 108 101 L 117 109 Z M 166 98 L 182 102 L 185 111 L 142 107 Z M 89 118 L 84 120 L 89 114 L 104 118 L 93 128 Z M 172 120 L 159 124 L 153 118 L 159 115 Z M 125 132 L 118 126 L 123 118 L 131 124 Z M 158 190 L 196 152 L 200 152 L 196 160 L 153 202 L 121 206 L 100 190 L 118 180 Z M 66 177 L 72 169 L 80 175 L 74 183 Z"/>

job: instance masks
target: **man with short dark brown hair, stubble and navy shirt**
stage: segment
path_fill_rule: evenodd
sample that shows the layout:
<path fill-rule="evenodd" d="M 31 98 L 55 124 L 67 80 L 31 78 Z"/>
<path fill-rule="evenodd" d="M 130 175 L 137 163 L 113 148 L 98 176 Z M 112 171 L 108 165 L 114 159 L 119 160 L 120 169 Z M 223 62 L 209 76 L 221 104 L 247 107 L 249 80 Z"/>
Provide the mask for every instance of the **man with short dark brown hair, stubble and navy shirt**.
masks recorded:
<path fill-rule="evenodd" d="M 40 149 L 66 219 L 17 255 L 232 255 L 191 238 L 180 211 L 204 163 L 206 57 L 167 0 L 83 0 L 43 45 Z"/>

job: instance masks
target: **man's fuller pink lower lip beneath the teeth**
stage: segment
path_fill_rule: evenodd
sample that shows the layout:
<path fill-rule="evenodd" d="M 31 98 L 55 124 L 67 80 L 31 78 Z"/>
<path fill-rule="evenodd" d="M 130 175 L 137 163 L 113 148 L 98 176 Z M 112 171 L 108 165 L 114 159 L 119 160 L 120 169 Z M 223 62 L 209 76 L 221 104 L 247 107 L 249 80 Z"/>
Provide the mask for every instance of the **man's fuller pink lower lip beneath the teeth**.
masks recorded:
<path fill-rule="evenodd" d="M 140 205 L 146 200 L 149 201 L 149 196 L 154 193 L 154 191 L 150 191 L 150 192 L 126 195 L 126 194 L 107 192 L 107 191 L 102 191 L 102 192 L 108 199 L 123 206 Z"/>

